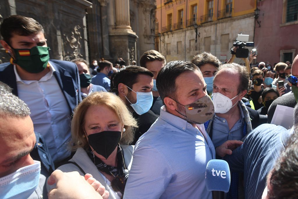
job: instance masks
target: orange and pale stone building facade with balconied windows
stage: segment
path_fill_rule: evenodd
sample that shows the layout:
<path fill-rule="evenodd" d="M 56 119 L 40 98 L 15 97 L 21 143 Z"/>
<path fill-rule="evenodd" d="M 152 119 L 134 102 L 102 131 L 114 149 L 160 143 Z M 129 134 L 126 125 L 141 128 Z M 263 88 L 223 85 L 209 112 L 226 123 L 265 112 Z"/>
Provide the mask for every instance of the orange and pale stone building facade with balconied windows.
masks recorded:
<path fill-rule="evenodd" d="M 167 62 L 190 61 L 204 51 L 225 62 L 237 34 L 253 41 L 255 9 L 255 0 L 157 0 L 156 49 Z"/>

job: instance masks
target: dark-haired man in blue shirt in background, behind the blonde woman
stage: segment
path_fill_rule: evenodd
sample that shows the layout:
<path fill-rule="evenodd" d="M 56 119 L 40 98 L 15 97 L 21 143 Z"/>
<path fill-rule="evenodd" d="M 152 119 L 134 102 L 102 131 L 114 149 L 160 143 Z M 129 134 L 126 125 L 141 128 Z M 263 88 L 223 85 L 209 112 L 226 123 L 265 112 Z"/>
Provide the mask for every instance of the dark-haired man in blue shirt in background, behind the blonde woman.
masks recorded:
<path fill-rule="evenodd" d="M 91 78 L 91 84 L 100 85 L 106 90 L 111 88 L 111 80 L 108 78 L 108 73 L 112 70 L 113 64 L 109 61 L 102 61 L 98 64 L 97 75 Z"/>

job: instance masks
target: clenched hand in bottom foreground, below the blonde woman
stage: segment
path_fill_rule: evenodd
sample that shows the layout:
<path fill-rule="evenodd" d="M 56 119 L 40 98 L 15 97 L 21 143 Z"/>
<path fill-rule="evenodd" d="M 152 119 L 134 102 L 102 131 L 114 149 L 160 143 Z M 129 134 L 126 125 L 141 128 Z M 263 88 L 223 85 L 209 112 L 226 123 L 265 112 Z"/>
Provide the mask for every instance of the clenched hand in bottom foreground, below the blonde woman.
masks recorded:
<path fill-rule="evenodd" d="M 87 180 L 90 176 L 87 175 Z M 49 199 L 79 199 L 91 198 L 102 199 L 101 195 L 94 190 L 86 179 L 79 172 L 62 172 L 55 170 L 48 179 L 48 184 L 56 183 L 56 188 L 48 193 Z"/>

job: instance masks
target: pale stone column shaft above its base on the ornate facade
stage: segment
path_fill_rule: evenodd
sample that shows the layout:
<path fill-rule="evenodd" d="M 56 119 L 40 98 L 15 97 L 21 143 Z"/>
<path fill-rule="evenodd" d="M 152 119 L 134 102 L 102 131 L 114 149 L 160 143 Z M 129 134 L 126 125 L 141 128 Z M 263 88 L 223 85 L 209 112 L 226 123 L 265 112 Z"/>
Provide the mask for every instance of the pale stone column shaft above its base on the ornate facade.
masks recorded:
<path fill-rule="evenodd" d="M 115 0 L 116 28 L 130 29 L 129 0 Z"/>

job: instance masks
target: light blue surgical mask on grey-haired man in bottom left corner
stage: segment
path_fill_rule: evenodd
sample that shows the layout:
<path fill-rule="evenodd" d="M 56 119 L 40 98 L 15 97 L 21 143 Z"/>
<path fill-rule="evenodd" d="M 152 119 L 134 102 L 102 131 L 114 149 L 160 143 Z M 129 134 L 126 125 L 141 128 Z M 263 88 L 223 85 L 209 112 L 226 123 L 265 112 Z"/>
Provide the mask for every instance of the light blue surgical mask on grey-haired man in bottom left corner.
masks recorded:
<path fill-rule="evenodd" d="M 0 178 L 1 198 L 29 198 L 39 183 L 40 162 L 24 166 Z"/>

